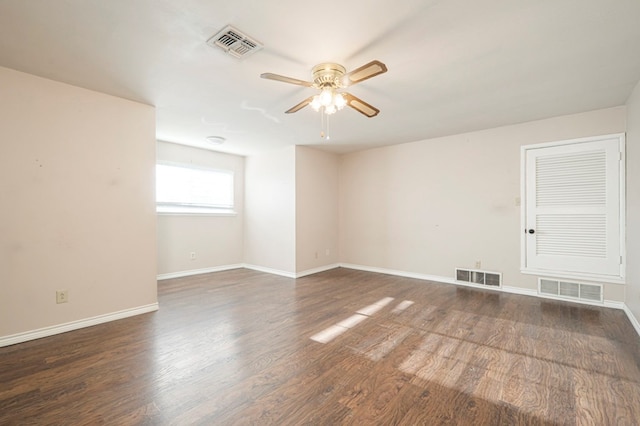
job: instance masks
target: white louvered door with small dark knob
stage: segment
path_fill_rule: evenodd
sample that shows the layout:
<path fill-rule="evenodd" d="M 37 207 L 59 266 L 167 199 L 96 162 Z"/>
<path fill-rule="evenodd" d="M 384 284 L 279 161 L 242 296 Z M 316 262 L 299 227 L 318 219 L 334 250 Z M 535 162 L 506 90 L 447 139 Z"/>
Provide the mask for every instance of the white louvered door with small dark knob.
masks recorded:
<path fill-rule="evenodd" d="M 621 276 L 621 138 L 524 150 L 525 269 Z"/>

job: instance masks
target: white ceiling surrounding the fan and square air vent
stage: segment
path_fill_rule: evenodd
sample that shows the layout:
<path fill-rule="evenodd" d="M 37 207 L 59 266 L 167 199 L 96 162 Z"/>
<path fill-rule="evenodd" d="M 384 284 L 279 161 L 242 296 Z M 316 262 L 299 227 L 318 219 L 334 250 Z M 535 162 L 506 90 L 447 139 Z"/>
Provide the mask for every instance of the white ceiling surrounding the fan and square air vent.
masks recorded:
<path fill-rule="evenodd" d="M 264 44 L 209 47 L 231 24 Z M 349 91 L 366 118 L 284 111 L 320 62 L 389 71 Z M 157 137 L 250 155 L 349 152 L 623 105 L 640 79 L 639 0 L 0 0 L 0 65 L 156 106 Z M 1 94 L 0 94 L 1 96 Z"/>

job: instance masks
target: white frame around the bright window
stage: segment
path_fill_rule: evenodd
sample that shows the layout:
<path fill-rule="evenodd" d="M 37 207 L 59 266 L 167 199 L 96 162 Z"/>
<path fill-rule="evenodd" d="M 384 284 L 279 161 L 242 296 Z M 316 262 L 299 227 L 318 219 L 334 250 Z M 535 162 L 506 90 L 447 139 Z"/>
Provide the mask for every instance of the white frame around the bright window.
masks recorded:
<path fill-rule="evenodd" d="M 158 161 L 157 166 L 177 167 L 186 170 L 204 171 L 216 174 L 224 174 L 231 177 L 230 196 L 231 203 L 214 205 L 206 203 L 188 202 L 159 202 L 157 200 L 157 172 L 156 172 L 156 212 L 160 215 L 208 215 L 208 216 L 235 216 L 235 173 L 233 170 L 217 169 L 212 167 L 196 166 L 193 164 Z"/>

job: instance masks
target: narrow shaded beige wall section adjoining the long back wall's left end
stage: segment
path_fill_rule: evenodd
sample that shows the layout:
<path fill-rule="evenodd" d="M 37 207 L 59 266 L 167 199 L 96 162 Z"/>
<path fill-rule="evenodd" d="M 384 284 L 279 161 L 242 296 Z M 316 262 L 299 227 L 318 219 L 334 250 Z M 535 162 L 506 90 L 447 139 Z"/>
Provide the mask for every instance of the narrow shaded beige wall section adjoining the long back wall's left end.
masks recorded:
<path fill-rule="evenodd" d="M 338 263 L 338 156 L 296 147 L 296 272 Z"/>

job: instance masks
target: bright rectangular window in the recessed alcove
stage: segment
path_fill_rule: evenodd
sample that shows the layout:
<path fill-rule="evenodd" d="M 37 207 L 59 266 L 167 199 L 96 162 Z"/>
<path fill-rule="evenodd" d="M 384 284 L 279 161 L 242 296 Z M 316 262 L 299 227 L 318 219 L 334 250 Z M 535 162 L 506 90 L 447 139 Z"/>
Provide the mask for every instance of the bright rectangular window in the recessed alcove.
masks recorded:
<path fill-rule="evenodd" d="M 156 164 L 158 213 L 233 214 L 233 172 Z"/>

